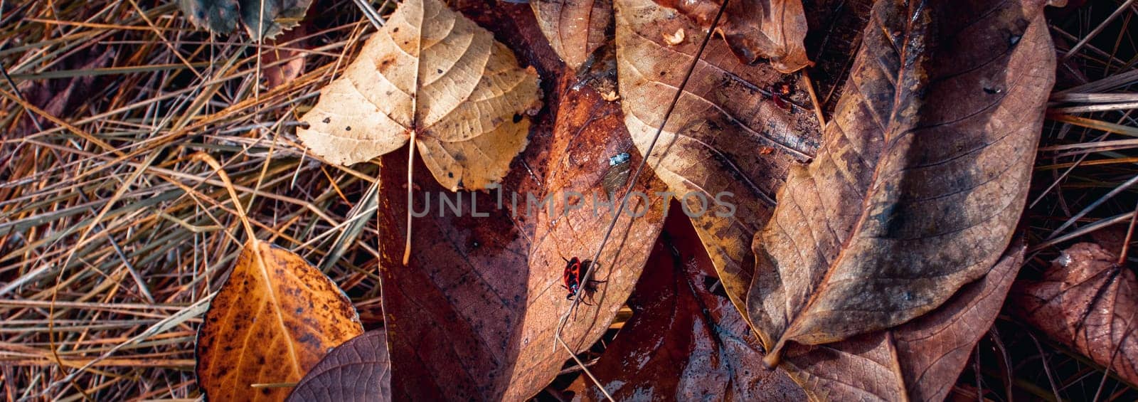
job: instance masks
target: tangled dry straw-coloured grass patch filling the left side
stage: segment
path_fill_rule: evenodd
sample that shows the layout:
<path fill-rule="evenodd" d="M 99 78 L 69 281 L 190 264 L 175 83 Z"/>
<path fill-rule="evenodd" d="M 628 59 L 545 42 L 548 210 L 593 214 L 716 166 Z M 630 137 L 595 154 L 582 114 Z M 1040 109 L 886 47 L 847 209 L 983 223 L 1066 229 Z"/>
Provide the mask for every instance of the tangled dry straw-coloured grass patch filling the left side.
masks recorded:
<path fill-rule="evenodd" d="M 378 298 L 362 269 L 376 253 L 361 247 L 376 231 L 348 215 L 374 167 L 321 169 L 291 150 L 297 115 L 364 38 L 360 14 L 313 10 L 305 40 L 320 46 L 306 61 L 324 67 L 264 90 L 248 38 L 211 38 L 176 2 L 154 5 L 3 6 L 0 65 L 26 96 L 0 83 L 0 317 L 11 322 L 0 399 L 198 397 L 191 335 L 247 237 L 234 235 L 240 206 L 257 237 L 312 260 L 335 249 L 324 272 L 355 301 Z M 91 57 L 108 63 L 84 68 Z M 198 151 L 230 173 L 240 206 Z M 358 241 L 336 243 L 344 229 Z"/>

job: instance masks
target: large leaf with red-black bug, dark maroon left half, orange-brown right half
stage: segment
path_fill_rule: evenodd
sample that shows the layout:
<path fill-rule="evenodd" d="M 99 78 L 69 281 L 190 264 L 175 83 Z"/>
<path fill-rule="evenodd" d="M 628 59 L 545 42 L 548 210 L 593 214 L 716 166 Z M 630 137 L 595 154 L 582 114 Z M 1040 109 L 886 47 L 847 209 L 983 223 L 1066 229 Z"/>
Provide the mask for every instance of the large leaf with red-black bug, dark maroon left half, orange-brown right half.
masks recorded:
<path fill-rule="evenodd" d="M 406 266 L 399 263 L 405 161 L 396 154 L 380 159 L 380 277 L 396 400 L 525 400 L 550 384 L 568 359 L 553 338 L 571 303 L 561 287 L 562 259 L 591 259 L 596 252 L 611 213 L 602 207 L 594 216 L 585 208 L 594 205 L 594 192 L 599 202 L 610 200 L 601 194 L 609 158 L 635 154 L 618 105 L 588 88 L 570 90 L 575 77 L 553 56 L 528 6 L 467 7 L 464 13 L 485 18 L 512 47 L 528 49 L 519 55 L 549 77 L 550 105 L 558 107 L 536 116 L 531 143 L 501 190 L 447 195 L 426 173 L 415 173 L 417 191 L 424 194 L 417 194 L 414 208 L 423 211 L 426 194 L 431 206 L 415 219 L 417 252 Z M 634 156 L 630 163 L 638 161 Z M 663 189 L 648 172 L 637 188 Z M 567 190 L 583 194 L 569 197 L 583 208 L 563 213 Z M 463 197 L 461 213 L 447 208 L 440 215 L 439 195 L 452 203 Z M 535 202 L 553 195 L 554 214 L 529 206 L 530 195 Z M 588 297 L 596 305 L 579 305 L 566 327 L 572 347 L 594 343 L 632 292 L 662 223 L 659 200 L 653 197 L 650 214 L 630 229 L 624 218 L 613 231 L 596 273 L 607 281 Z"/>

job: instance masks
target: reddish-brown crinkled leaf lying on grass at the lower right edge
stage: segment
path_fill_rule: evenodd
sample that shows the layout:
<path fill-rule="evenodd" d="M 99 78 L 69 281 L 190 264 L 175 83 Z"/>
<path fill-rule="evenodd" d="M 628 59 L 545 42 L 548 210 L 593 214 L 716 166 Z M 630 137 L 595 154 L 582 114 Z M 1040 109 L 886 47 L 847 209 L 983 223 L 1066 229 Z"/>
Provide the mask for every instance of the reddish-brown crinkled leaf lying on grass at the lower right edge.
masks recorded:
<path fill-rule="evenodd" d="M 1138 384 L 1138 279 L 1114 253 L 1075 244 L 1042 279 L 1017 281 L 1012 301 L 1031 326 Z"/>

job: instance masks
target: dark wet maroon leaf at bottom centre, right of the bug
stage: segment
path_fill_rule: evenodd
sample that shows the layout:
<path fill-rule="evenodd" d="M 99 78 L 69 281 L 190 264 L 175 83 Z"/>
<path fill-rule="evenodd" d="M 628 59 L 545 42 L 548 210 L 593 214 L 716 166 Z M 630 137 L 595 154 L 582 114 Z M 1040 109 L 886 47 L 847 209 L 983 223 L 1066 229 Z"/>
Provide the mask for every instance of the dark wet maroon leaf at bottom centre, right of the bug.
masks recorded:
<path fill-rule="evenodd" d="M 679 208 L 673 205 L 673 210 Z M 762 368 L 758 339 L 723 295 L 687 216 L 670 214 L 636 290 L 633 317 L 589 369 L 618 401 L 801 401 L 782 369 Z M 603 400 L 588 384 L 585 400 Z"/>

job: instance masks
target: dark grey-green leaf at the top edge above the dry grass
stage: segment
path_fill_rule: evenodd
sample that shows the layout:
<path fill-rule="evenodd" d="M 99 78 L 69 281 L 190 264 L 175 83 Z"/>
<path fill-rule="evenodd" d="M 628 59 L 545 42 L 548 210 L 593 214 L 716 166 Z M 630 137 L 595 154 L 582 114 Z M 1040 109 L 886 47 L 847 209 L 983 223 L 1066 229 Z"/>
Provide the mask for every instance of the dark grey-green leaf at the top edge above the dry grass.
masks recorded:
<path fill-rule="evenodd" d="M 249 36 L 261 40 L 297 26 L 312 0 L 179 0 L 179 5 L 193 25 L 232 33 L 240 22 Z"/>

